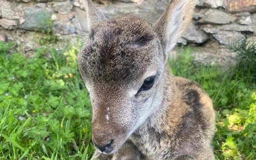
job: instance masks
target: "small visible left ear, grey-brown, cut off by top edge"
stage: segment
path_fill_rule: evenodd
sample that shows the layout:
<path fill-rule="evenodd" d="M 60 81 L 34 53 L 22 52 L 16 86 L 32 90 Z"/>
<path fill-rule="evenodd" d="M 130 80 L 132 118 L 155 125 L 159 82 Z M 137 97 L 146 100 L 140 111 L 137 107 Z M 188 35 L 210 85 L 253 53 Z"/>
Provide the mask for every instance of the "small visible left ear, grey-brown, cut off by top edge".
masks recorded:
<path fill-rule="evenodd" d="M 93 4 L 92 0 L 83 0 L 83 5 L 85 8 L 85 11 L 87 12 L 87 25 L 90 32 L 91 27 L 94 24 L 100 21 L 104 21 L 106 17 L 100 11 L 98 11 L 98 9 Z"/>

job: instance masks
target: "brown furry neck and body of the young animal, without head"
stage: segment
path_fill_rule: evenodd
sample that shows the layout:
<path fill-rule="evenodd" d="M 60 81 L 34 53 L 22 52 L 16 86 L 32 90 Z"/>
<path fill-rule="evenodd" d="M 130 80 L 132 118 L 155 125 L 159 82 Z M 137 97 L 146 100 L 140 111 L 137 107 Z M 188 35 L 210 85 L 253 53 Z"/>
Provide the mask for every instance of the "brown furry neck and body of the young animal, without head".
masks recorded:
<path fill-rule="evenodd" d="M 172 77 L 169 73 L 165 76 L 170 82 L 166 84 L 169 94 L 166 94 L 162 103 L 166 106 L 152 115 L 133 133 L 131 139 L 142 155 L 146 155 L 146 160 L 184 160 L 179 157 L 182 155 L 196 160 L 213 160 L 210 141 L 215 130 L 215 114 L 211 99 L 197 83 L 182 77 Z M 185 103 L 188 90 L 195 90 L 199 94 L 201 106 Z M 202 112 L 202 117 L 193 112 L 194 107 L 200 107 L 197 112 Z M 208 113 L 204 114 L 205 111 Z"/>

